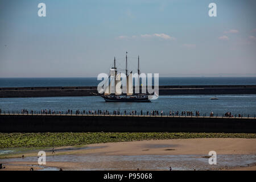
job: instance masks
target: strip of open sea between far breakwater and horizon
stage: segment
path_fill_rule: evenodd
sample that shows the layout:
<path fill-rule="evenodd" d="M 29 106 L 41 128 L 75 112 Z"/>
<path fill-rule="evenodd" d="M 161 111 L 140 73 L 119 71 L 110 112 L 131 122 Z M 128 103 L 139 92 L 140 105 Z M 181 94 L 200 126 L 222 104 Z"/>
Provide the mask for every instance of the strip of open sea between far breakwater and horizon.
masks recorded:
<path fill-rule="evenodd" d="M 0 78 L 0 88 L 97 86 L 99 82 L 97 77 Z M 159 85 L 256 85 L 256 77 L 159 77 Z"/>

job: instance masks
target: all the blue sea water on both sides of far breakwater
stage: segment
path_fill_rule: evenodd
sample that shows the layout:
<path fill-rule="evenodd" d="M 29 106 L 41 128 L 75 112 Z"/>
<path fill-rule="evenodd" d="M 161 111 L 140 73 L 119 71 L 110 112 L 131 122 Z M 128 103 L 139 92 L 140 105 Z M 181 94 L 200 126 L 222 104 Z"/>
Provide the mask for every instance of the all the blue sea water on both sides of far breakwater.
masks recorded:
<path fill-rule="evenodd" d="M 97 78 L 0 78 L 1 87 L 32 86 L 97 86 Z M 256 77 L 160 77 L 159 85 L 256 85 Z M 218 97 L 219 100 L 210 100 Z M 120 110 L 129 113 L 137 110 L 199 111 L 200 114 L 232 114 L 253 116 L 256 114 L 256 94 L 220 94 L 220 95 L 174 95 L 159 96 L 148 103 L 105 102 L 98 96 L 92 97 L 36 97 L 36 98 L 0 98 L 2 111 L 21 111 L 22 109 L 40 111 L 70 110 Z"/>

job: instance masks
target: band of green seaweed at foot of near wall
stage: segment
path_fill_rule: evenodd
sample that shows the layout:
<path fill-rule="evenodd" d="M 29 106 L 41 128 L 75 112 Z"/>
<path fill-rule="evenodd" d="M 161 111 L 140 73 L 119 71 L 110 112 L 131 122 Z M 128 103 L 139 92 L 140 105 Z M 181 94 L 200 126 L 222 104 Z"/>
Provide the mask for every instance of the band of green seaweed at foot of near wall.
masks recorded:
<path fill-rule="evenodd" d="M 245 133 L 0 133 L 0 148 L 77 146 L 93 143 L 188 138 L 256 138 Z"/>

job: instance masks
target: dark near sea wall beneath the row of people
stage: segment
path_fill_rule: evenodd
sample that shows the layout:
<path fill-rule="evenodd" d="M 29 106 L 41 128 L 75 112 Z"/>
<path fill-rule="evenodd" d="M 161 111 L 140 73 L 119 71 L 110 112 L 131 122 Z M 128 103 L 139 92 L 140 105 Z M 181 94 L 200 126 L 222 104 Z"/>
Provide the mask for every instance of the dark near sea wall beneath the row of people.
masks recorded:
<path fill-rule="evenodd" d="M 101 131 L 256 133 L 256 119 L 98 115 L 0 115 L 1 133 Z"/>

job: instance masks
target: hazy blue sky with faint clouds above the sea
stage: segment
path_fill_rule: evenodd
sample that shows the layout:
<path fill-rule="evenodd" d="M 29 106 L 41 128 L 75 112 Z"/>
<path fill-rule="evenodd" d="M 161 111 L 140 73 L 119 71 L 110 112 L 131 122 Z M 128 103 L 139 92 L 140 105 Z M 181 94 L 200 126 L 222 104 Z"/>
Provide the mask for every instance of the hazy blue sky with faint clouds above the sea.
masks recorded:
<path fill-rule="evenodd" d="M 38 4 L 46 3 L 46 17 Z M 208 5 L 217 5 L 209 17 Z M 0 77 L 97 77 L 114 56 L 160 76 L 256 75 L 255 1 L 0 2 Z"/>

